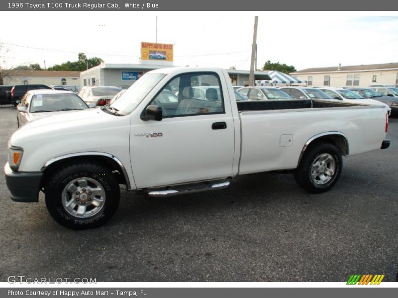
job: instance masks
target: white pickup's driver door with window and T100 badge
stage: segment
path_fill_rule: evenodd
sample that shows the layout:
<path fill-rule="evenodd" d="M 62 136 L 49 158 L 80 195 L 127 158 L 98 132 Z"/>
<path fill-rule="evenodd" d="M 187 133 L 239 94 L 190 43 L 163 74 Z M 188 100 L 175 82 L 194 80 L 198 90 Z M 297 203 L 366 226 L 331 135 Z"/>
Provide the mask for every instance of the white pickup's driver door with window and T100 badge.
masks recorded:
<path fill-rule="evenodd" d="M 234 126 L 222 73 L 177 75 L 149 104 L 162 108 L 163 119 L 132 119 L 130 156 L 138 188 L 232 175 Z"/>

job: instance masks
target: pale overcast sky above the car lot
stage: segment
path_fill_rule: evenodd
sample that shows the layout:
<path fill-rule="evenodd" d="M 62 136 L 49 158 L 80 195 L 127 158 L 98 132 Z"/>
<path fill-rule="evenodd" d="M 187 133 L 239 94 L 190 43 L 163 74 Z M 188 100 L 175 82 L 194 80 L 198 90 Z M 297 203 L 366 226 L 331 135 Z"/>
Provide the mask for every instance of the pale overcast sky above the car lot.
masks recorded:
<path fill-rule="evenodd" d="M 174 65 L 248 70 L 256 14 L 257 68 L 267 60 L 297 70 L 398 62 L 397 12 L 1 11 L 1 67 L 49 67 L 78 52 L 138 63 L 140 42 L 156 40 L 157 16 L 157 40 L 175 44 Z"/>

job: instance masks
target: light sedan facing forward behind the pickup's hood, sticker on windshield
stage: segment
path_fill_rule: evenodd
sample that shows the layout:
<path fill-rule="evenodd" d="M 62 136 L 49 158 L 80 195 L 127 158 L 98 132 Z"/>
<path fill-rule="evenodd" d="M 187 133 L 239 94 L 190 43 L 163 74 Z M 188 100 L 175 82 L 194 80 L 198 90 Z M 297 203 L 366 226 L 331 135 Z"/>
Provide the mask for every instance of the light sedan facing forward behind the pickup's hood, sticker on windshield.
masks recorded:
<path fill-rule="evenodd" d="M 17 125 L 69 111 L 85 110 L 89 106 L 72 91 L 27 91 L 17 106 Z"/>

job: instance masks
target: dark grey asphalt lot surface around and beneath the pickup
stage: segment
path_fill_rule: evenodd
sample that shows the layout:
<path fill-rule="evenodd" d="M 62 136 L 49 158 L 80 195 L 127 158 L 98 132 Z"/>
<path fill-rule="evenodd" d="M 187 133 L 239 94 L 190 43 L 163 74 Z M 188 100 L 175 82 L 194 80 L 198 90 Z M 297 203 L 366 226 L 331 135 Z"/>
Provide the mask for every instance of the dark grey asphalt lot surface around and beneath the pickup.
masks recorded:
<path fill-rule="evenodd" d="M 16 130 L 0 108 L 0 163 Z M 239 177 L 229 189 L 153 199 L 122 190 L 100 228 L 70 230 L 38 203 L 15 203 L 0 175 L 0 281 L 344 282 L 398 271 L 398 118 L 389 149 L 344 158 L 336 186 L 304 192 L 292 174 Z"/>

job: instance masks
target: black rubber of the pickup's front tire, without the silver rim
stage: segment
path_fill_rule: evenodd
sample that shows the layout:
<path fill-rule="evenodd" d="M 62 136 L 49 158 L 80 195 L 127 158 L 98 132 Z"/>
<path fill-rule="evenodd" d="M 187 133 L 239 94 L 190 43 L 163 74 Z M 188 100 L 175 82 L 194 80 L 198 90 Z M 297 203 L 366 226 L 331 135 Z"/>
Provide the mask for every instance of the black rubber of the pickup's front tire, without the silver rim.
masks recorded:
<path fill-rule="evenodd" d="M 117 206 L 119 205 L 119 184 L 116 177 L 106 166 L 97 164 L 96 162 L 76 163 L 65 166 L 63 168 L 58 168 L 54 172 L 50 173 L 48 176 L 50 178 L 47 180 L 47 183 L 44 186 L 47 210 L 57 223 L 65 227 L 72 229 L 86 229 L 100 226 L 101 224 L 107 222 L 113 216 L 117 209 Z M 64 197 L 69 197 L 70 200 L 73 200 L 72 192 L 67 191 L 66 186 L 70 186 L 71 182 L 75 181 L 78 178 L 82 178 L 81 180 L 90 179 L 88 183 L 92 184 L 92 181 L 94 181 L 94 185 L 103 188 L 101 190 L 102 193 L 104 193 L 103 203 L 101 203 L 101 207 L 98 207 L 97 213 L 93 214 L 92 216 L 86 216 L 84 218 L 74 216 L 71 214 L 71 212 L 77 211 L 67 211 L 63 204 L 64 190 Z M 79 183 L 75 182 L 75 185 L 78 185 L 78 187 L 80 187 L 79 184 L 81 180 L 79 180 Z M 87 186 L 87 189 L 89 189 L 89 187 L 91 186 Z M 84 188 L 83 190 L 86 194 L 86 199 L 88 194 L 86 192 L 88 192 L 89 190 L 86 191 Z M 94 192 L 95 191 L 93 190 L 93 193 Z M 92 193 L 90 193 L 90 195 L 91 194 Z M 75 194 L 73 194 L 73 196 L 75 196 Z M 94 210 L 96 206 L 94 206 L 94 204 L 92 203 L 94 203 L 95 197 L 97 196 L 88 196 L 88 199 L 86 199 L 84 203 L 76 198 L 76 201 L 79 202 L 74 203 L 75 205 L 87 204 L 87 209 L 92 206 L 92 209 Z M 93 202 L 88 202 L 92 200 Z M 77 208 L 79 208 L 79 206 Z"/>

